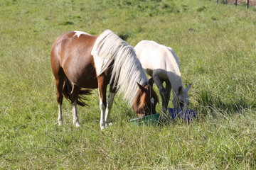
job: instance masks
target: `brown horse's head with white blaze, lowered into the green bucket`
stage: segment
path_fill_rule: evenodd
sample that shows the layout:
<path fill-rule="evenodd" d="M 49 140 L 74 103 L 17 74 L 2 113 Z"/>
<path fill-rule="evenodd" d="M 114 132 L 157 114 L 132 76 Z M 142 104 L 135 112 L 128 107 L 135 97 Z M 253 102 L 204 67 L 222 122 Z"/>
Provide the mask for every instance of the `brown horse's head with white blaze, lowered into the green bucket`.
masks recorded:
<path fill-rule="evenodd" d="M 138 117 L 156 113 L 156 103 L 159 102 L 159 98 L 153 89 L 153 84 L 153 79 L 149 79 L 149 82 L 143 86 L 138 84 L 139 94 L 132 105 Z"/>

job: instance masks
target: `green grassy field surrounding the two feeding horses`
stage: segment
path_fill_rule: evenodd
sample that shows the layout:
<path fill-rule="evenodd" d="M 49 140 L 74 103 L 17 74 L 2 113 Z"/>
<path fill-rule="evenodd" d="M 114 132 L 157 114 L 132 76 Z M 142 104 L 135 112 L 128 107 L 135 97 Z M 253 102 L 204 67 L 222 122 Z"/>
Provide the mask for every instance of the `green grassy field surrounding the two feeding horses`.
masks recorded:
<path fill-rule="evenodd" d="M 53 42 L 106 29 L 172 47 L 198 120 L 137 127 L 119 96 L 101 132 L 95 90 L 59 127 Z M 255 8 L 208 0 L 0 0 L 0 169 L 256 169 L 255 40 Z"/>

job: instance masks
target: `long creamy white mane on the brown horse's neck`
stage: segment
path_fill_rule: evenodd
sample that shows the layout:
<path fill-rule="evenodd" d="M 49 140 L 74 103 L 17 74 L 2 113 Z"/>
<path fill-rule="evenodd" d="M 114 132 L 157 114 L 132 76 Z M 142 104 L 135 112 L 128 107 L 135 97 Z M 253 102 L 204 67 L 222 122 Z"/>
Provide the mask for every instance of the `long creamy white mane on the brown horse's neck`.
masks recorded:
<path fill-rule="evenodd" d="M 95 41 L 92 55 L 97 76 L 113 62 L 110 84 L 117 87 L 118 94 L 122 93 L 124 99 L 132 105 L 139 93 L 137 82 L 141 85 L 147 83 L 146 74 L 133 47 L 111 30 L 105 30 Z"/>

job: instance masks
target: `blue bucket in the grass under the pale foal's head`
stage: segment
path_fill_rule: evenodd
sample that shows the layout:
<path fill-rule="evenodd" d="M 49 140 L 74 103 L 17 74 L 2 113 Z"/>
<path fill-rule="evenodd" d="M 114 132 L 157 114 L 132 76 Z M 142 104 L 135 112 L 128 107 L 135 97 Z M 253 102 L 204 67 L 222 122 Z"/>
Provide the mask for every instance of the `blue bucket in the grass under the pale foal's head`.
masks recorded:
<path fill-rule="evenodd" d="M 178 108 L 168 108 L 169 109 L 169 115 L 171 116 L 172 120 L 176 120 L 177 118 L 182 118 L 183 120 L 186 120 L 190 122 L 193 118 L 196 118 L 196 111 L 187 110 L 186 112 L 182 109 Z"/>

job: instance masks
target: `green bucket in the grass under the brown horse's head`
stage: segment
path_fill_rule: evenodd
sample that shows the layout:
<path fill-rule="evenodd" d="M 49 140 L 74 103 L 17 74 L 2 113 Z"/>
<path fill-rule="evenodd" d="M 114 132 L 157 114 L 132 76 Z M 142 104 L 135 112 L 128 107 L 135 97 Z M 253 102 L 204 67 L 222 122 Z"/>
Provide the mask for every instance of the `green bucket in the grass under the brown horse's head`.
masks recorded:
<path fill-rule="evenodd" d="M 159 113 L 154 115 L 144 115 L 140 118 L 133 118 L 130 120 L 132 125 L 157 125 L 159 123 Z"/>

